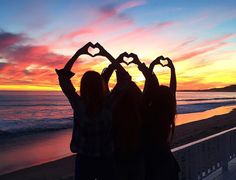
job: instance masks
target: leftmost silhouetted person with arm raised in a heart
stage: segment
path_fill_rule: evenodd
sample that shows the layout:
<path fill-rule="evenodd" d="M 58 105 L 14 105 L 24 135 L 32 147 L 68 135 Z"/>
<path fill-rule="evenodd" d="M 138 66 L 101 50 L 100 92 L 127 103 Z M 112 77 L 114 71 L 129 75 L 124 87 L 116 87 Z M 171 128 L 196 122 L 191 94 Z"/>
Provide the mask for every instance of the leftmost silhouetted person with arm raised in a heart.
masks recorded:
<path fill-rule="evenodd" d="M 88 54 L 87 43 L 79 49 L 66 63 L 63 69 L 56 72 L 59 84 L 73 109 L 73 132 L 70 149 L 76 155 L 75 179 L 110 180 L 114 179 L 112 113 L 107 100 L 108 81 L 111 66 L 100 75 L 95 71 L 84 73 L 80 84 L 80 95 L 70 80 L 74 75 L 71 68 L 80 55 Z"/>

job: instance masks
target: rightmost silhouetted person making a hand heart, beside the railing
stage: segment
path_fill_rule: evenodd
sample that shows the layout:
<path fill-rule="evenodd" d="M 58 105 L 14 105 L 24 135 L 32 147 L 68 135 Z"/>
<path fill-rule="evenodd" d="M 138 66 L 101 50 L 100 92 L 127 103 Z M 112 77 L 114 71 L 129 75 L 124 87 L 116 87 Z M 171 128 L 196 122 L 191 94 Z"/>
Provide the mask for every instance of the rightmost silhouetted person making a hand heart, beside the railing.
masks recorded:
<path fill-rule="evenodd" d="M 141 63 L 138 56 L 131 54 L 133 63 L 145 77 L 143 90 L 143 146 L 145 158 L 146 180 L 178 180 L 179 165 L 174 158 L 170 141 L 175 129 L 176 115 L 176 75 L 175 68 L 169 58 L 160 56 L 150 67 Z M 160 60 L 167 60 L 163 65 Z M 153 68 L 156 64 L 168 66 L 171 69 L 170 87 L 159 85 Z"/>

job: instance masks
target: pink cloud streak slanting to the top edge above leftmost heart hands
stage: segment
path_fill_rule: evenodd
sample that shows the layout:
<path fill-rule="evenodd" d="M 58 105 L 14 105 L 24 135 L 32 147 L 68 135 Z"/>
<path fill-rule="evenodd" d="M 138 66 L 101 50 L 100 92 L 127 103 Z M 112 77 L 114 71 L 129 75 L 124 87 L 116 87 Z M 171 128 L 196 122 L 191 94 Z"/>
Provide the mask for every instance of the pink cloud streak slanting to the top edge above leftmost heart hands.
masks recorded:
<path fill-rule="evenodd" d="M 134 25 L 132 18 L 123 13 L 123 11 L 141 6 L 145 1 L 128 1 L 118 5 L 109 5 L 100 8 L 94 13 L 94 19 L 88 22 L 83 27 L 75 28 L 71 32 L 61 35 L 55 41 L 50 43 L 52 48 L 62 48 L 63 46 L 78 46 L 81 41 L 77 43 L 76 38 L 89 40 L 98 40 L 106 36 L 108 33 L 117 33 L 124 29 L 131 28 Z M 82 38 L 81 38 L 82 37 Z M 44 37 L 47 39 L 47 37 Z"/>

